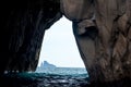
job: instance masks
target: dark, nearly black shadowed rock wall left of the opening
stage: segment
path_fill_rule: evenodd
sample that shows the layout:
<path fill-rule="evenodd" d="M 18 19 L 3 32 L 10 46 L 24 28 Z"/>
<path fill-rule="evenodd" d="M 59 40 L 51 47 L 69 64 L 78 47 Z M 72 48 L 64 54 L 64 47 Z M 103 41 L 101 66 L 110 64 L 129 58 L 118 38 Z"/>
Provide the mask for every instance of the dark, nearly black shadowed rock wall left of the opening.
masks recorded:
<path fill-rule="evenodd" d="M 61 17 L 58 0 L 1 2 L 0 73 L 35 71 L 45 29 Z"/>

